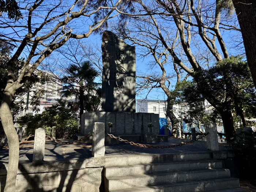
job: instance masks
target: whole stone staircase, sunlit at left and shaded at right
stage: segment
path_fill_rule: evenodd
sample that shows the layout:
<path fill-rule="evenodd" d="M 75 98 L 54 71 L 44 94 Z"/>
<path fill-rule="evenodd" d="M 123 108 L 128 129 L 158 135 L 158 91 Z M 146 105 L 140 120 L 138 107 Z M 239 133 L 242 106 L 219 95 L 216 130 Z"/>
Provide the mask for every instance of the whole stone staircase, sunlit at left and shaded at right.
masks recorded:
<path fill-rule="evenodd" d="M 106 192 L 245 192 L 211 152 L 106 157 Z"/>

